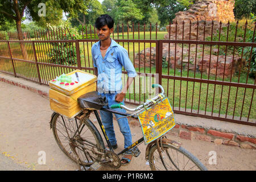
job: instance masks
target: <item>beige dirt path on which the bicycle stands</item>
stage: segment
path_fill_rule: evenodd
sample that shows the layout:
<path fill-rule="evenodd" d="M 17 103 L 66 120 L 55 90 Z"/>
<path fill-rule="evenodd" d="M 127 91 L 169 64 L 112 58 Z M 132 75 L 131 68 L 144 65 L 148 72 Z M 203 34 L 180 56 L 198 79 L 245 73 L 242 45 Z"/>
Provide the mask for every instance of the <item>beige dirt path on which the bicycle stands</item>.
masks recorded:
<path fill-rule="evenodd" d="M 0 82 L 0 97 L 1 170 L 18 169 L 15 165 L 13 165 L 13 169 L 5 168 L 3 160 L 1 162 L 2 158 L 12 160 L 23 169 L 28 170 L 76 170 L 79 168 L 76 163 L 63 154 L 53 138 L 52 130 L 49 128 L 52 111 L 48 99 L 5 82 Z M 119 133 L 117 125 L 115 125 L 115 130 L 118 138 L 117 151 L 121 151 L 123 137 Z M 142 136 L 141 128 L 138 126 L 131 126 L 131 133 L 134 141 Z M 183 147 L 197 156 L 209 170 L 256 169 L 255 150 L 168 137 L 183 143 Z M 138 158 L 133 158 L 131 164 L 122 166 L 119 170 L 150 170 L 144 160 L 145 148 L 146 146 L 142 143 L 139 146 L 141 155 Z M 46 154 L 46 165 L 38 164 L 40 151 L 44 151 Z M 216 164 L 209 164 L 210 151 L 216 152 Z M 101 170 L 113 169 L 102 167 Z"/>

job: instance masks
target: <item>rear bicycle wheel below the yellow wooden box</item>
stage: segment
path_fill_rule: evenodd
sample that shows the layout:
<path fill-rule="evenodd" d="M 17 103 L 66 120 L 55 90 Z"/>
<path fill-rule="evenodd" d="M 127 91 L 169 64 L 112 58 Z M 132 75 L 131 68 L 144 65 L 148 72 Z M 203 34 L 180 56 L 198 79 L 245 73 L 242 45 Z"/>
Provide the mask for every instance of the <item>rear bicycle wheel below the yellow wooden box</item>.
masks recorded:
<path fill-rule="evenodd" d="M 80 160 L 77 160 L 77 155 L 73 152 L 70 144 L 81 144 L 79 140 L 72 140 L 73 134 L 81 124 L 80 134 L 76 135 L 76 138 L 82 138 L 89 141 L 90 147 L 94 151 L 104 151 L 104 142 L 101 138 L 100 133 L 93 125 L 93 123 L 88 118 L 82 118 L 80 121 L 76 118 L 73 118 L 72 121 L 68 118 L 63 117 L 60 114 L 55 113 L 52 117 L 52 131 L 55 137 L 55 140 L 60 147 L 60 149 L 74 162 L 79 162 L 84 166 L 92 165 L 96 160 L 101 159 L 101 155 L 93 154 L 92 150 L 85 150 L 82 147 L 76 147 L 75 150 L 79 156 Z M 77 142 L 77 143 L 76 143 Z M 82 143 L 84 144 L 84 143 Z M 81 145 L 82 145 L 81 144 Z"/>

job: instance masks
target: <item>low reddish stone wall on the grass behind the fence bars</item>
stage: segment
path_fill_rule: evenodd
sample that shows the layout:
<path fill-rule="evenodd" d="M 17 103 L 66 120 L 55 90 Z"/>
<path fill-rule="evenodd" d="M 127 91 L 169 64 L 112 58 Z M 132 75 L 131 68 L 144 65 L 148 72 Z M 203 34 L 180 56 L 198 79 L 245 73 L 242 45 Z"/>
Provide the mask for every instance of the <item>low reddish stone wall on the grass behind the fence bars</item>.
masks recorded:
<path fill-rule="evenodd" d="M 188 57 L 188 53 L 190 51 L 190 55 Z M 203 72 L 210 75 L 217 75 L 217 77 L 230 77 L 230 75 L 234 75 L 238 71 L 238 65 L 241 64 L 241 57 L 237 55 L 217 55 L 218 49 L 212 49 L 212 55 L 208 55 L 207 53 L 203 53 L 202 50 L 197 49 L 197 57 L 195 57 L 196 46 L 193 45 L 189 49 L 182 48 L 179 45 L 169 45 L 168 43 L 163 44 L 162 55 L 163 59 L 166 60 L 168 64 L 168 60 L 170 59 L 169 67 L 177 69 L 188 69 L 196 72 Z M 176 56 L 176 57 L 175 57 Z M 188 64 L 189 60 L 189 64 Z M 145 51 L 142 50 L 141 53 L 137 53 L 134 60 L 134 67 L 141 68 L 145 67 L 155 67 L 156 61 L 156 49 L 155 47 L 146 48 Z M 176 63 L 175 63 L 176 61 Z"/>

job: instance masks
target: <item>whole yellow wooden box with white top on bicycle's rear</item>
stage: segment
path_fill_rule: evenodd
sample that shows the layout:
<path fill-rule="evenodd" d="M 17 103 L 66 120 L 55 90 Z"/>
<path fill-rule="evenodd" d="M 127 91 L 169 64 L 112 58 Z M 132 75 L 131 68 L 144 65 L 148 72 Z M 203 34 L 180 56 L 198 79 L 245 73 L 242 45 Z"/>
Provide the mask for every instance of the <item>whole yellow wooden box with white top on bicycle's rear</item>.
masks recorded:
<path fill-rule="evenodd" d="M 51 109 L 68 118 L 75 117 L 82 110 L 77 102 L 77 98 L 82 94 L 96 91 L 97 86 L 96 76 L 79 69 L 68 73 L 67 76 L 70 75 L 75 77 L 75 72 L 79 73 L 80 82 L 78 84 L 72 86 L 59 86 L 55 82 L 49 81 L 49 102 Z"/>

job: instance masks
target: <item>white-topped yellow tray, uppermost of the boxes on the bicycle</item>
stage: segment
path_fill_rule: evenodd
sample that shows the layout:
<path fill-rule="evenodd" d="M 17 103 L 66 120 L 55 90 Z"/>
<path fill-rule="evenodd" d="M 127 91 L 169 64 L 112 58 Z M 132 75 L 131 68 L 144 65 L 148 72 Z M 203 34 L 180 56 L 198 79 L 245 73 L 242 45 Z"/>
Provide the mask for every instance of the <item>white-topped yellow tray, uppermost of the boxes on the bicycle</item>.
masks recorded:
<path fill-rule="evenodd" d="M 73 77 L 73 79 L 76 80 L 76 76 L 75 76 L 76 72 L 78 73 L 79 79 L 80 79 L 78 84 L 75 84 L 73 86 L 71 86 L 71 85 L 60 86 L 60 85 L 57 85 L 53 81 L 49 81 L 49 87 L 53 90 L 57 90 L 57 91 L 65 94 L 66 96 L 71 96 L 72 94 L 78 92 L 81 89 L 84 89 L 86 86 L 92 84 L 93 82 L 95 82 L 97 80 L 97 76 L 92 75 L 87 72 L 84 72 L 84 71 L 81 71 L 80 69 L 76 69 L 75 71 L 66 74 L 66 76 L 71 76 L 71 77 Z"/>

